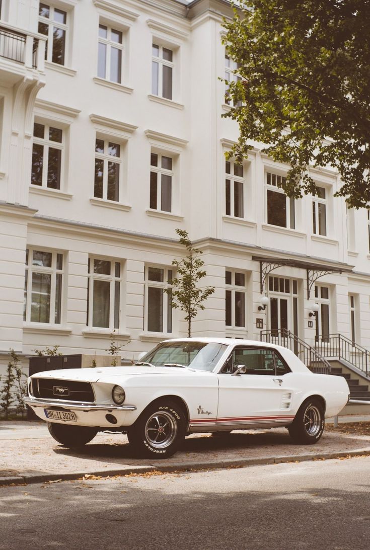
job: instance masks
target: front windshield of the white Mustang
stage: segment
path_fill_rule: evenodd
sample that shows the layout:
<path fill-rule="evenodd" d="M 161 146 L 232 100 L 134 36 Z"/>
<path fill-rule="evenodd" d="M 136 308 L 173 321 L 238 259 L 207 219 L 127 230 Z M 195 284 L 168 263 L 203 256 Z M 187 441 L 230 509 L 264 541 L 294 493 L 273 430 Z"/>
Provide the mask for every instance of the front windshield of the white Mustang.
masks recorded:
<path fill-rule="evenodd" d="M 177 366 L 213 371 L 225 344 L 216 342 L 165 342 L 142 357 L 138 364 L 150 363 L 156 367 Z"/>

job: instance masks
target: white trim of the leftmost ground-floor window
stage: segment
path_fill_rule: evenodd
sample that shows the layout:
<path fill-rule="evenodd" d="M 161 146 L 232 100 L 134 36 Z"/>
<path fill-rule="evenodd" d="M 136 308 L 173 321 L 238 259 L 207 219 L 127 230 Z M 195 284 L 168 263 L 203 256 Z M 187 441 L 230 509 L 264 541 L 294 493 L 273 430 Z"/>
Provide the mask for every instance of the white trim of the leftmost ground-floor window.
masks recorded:
<path fill-rule="evenodd" d="M 59 329 L 63 330 L 61 328 L 63 326 L 63 319 L 64 319 L 64 287 L 65 287 L 65 279 L 66 279 L 66 254 L 64 254 L 62 251 L 59 250 L 52 250 L 47 249 L 43 246 L 28 246 L 28 263 L 25 264 L 25 271 L 28 272 L 28 278 L 27 278 L 27 299 L 26 299 L 26 315 L 25 319 L 23 321 L 24 326 L 32 328 L 32 327 L 46 327 L 51 329 L 52 327 L 55 327 L 55 329 L 58 331 Z M 52 264 L 51 267 L 43 267 L 43 266 L 36 266 L 32 265 L 32 259 L 33 259 L 33 252 L 34 251 L 40 251 L 40 252 L 49 252 L 52 254 Z M 61 254 L 63 259 L 63 266 L 61 270 L 57 269 L 57 254 Z M 51 285 L 50 285 L 50 311 L 49 311 L 49 322 L 43 323 L 42 321 L 31 321 L 31 300 L 32 300 L 32 274 L 34 272 L 37 273 L 45 273 L 45 274 L 51 274 Z M 56 299 L 56 274 L 62 275 L 62 288 L 61 288 L 61 322 L 56 323 L 55 321 L 50 322 L 51 319 L 55 320 L 55 299 Z M 67 329 L 68 332 L 69 329 Z"/>

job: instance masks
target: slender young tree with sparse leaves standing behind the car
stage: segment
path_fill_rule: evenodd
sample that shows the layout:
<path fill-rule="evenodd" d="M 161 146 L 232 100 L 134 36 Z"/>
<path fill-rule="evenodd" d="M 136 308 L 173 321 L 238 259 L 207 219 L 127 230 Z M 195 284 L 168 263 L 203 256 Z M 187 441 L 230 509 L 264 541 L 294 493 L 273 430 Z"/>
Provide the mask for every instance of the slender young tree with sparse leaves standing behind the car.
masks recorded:
<path fill-rule="evenodd" d="M 200 255 L 202 250 L 193 247 L 187 231 L 176 229 L 179 236 L 178 242 L 185 246 L 188 255 L 182 260 L 172 260 L 172 265 L 177 268 L 177 275 L 170 281 L 171 287 L 164 292 L 171 300 L 171 306 L 186 313 L 185 320 L 188 322 L 188 337 L 192 335 L 192 319 L 198 315 L 199 310 L 204 310 L 203 302 L 215 292 L 214 287 L 200 289 L 197 283 L 206 276 L 201 268 L 204 266 Z"/>

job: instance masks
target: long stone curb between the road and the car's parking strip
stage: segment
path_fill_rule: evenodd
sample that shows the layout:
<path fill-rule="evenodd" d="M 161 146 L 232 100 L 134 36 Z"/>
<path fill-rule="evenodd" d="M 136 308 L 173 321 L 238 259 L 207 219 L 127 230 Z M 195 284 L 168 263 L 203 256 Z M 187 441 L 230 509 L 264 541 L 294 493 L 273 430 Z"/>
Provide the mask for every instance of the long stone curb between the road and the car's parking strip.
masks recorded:
<path fill-rule="evenodd" d="M 353 456 L 366 455 L 370 456 L 370 447 L 364 449 L 352 449 L 349 451 L 334 452 L 334 453 L 319 453 L 319 454 L 302 454 L 302 455 L 282 455 L 282 456 L 262 456 L 260 458 L 251 459 L 236 459 L 236 460 L 221 460 L 217 462 L 198 462 L 182 463 L 182 464 L 167 464 L 161 466 L 160 463 L 156 466 L 126 466 L 121 470 L 96 470 L 93 472 L 71 472 L 70 474 L 45 474 L 45 475 L 19 475 L 13 477 L 0 477 L 0 487 L 14 485 L 29 485 L 31 483 L 43 483 L 46 481 L 68 481 L 77 480 L 84 475 L 93 475 L 101 477 L 109 476 L 125 476 L 130 474 L 148 474 L 149 472 L 163 472 L 168 474 L 171 472 L 186 472 L 186 471 L 204 471 L 204 470 L 221 470 L 227 468 L 241 468 L 248 466 L 260 466 L 268 464 L 283 464 L 289 462 L 306 462 L 314 460 L 330 460 L 336 458 L 351 458 Z"/>

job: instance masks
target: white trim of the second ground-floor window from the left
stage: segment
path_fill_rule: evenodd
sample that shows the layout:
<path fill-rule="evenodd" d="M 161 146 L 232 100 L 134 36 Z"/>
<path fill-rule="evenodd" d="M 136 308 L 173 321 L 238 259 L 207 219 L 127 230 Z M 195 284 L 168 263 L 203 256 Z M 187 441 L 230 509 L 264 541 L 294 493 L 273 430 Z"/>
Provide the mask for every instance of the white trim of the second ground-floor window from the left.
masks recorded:
<path fill-rule="evenodd" d="M 111 263 L 111 274 L 105 275 L 102 273 L 94 273 L 94 260 L 104 260 Z M 89 303 L 88 303 L 88 318 L 86 319 L 86 331 L 98 331 L 98 332 L 112 332 L 114 329 L 119 333 L 122 329 L 122 318 L 123 318 L 123 262 L 120 259 L 107 258 L 102 256 L 89 256 L 90 261 L 90 272 L 88 272 L 89 280 Z M 119 263 L 121 266 L 121 274 L 119 277 L 116 277 L 115 269 L 116 263 Z M 92 324 L 92 316 L 94 311 L 94 281 L 109 281 L 110 282 L 110 303 L 109 303 L 109 327 L 94 327 Z M 115 327 L 115 283 L 119 282 L 119 321 L 118 327 Z M 85 332 L 86 332 L 85 331 Z"/>

